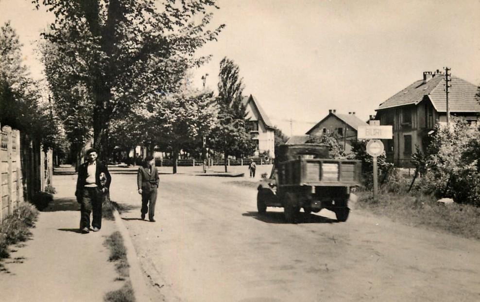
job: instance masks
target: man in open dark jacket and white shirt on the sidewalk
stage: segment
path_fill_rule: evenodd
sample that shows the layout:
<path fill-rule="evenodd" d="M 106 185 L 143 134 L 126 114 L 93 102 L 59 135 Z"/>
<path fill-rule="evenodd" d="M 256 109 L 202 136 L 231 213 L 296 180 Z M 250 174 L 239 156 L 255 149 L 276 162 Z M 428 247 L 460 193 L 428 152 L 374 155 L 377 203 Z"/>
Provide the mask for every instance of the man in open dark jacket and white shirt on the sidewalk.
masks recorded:
<path fill-rule="evenodd" d="M 106 165 L 97 160 L 95 149 L 86 151 L 86 162 L 78 168 L 77 189 L 75 196 L 80 203 L 80 230 L 90 230 L 90 213 L 93 212 L 92 230 L 102 228 L 103 194 L 108 191 L 112 178 Z"/>

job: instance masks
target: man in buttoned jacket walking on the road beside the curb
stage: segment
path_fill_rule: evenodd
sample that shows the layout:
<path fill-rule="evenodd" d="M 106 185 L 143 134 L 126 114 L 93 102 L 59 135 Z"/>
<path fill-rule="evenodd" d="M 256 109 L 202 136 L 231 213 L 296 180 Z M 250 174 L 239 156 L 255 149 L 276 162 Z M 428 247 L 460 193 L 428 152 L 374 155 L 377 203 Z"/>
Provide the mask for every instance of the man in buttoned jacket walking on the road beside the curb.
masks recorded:
<path fill-rule="evenodd" d="M 149 155 L 144 161 L 142 167 L 138 168 L 137 186 L 138 194 L 142 195 L 141 219 L 145 219 L 148 213 L 148 219 L 155 222 L 155 203 L 158 189 L 158 170 L 155 167 L 155 159 Z"/>

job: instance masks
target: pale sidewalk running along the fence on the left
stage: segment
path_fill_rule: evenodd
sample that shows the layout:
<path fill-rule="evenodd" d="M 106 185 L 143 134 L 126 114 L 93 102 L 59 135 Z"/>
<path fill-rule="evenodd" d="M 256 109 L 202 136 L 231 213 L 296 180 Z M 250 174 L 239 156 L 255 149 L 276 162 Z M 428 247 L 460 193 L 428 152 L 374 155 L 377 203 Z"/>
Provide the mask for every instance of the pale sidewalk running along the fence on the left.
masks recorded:
<path fill-rule="evenodd" d="M 118 230 L 115 221 L 103 219 L 100 231 L 81 234 L 76 175 L 72 169 L 61 173 L 53 177 L 57 194 L 39 213 L 32 239 L 12 247 L 17 251 L 3 261 L 9 273 L 0 272 L 1 301 L 103 301 L 123 285 L 115 281 L 118 274 L 103 246 Z"/>

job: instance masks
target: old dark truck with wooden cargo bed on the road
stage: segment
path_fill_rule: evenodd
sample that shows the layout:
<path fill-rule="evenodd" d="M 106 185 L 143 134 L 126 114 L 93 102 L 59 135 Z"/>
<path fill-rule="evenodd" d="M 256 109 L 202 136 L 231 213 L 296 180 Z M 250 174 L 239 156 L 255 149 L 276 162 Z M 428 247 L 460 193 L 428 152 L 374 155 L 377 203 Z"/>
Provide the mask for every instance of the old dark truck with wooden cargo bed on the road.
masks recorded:
<path fill-rule="evenodd" d="M 270 178 L 257 188 L 257 210 L 283 207 L 286 221 L 294 223 L 302 208 L 308 214 L 327 209 L 344 222 L 351 191 L 360 181 L 360 160 L 329 158 L 328 146 L 321 144 L 280 145 Z"/>

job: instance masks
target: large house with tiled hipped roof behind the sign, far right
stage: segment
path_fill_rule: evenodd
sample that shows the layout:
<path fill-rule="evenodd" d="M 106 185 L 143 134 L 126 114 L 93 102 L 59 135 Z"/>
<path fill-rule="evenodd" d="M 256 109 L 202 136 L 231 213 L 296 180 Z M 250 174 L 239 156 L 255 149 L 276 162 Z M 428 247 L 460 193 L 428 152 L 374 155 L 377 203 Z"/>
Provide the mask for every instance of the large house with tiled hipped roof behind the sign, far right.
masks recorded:
<path fill-rule="evenodd" d="M 471 123 L 479 118 L 477 86 L 451 76 L 448 93 L 450 114 Z M 423 72 L 423 79 L 413 82 L 376 109 L 381 125 L 392 125 L 393 140 L 384 140 L 387 160 L 397 166 L 410 166 L 416 146 L 425 151 L 435 124 L 446 122 L 445 74 Z"/>

